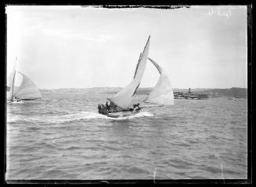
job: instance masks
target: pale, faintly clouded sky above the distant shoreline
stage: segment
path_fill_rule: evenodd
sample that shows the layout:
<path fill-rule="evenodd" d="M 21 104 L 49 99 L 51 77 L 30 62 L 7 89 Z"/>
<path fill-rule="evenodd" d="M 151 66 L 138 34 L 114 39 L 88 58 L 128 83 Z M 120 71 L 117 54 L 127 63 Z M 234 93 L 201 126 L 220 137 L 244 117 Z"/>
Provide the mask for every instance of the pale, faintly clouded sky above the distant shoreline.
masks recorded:
<path fill-rule="evenodd" d="M 8 5 L 7 77 L 16 70 L 40 89 L 124 87 L 150 36 L 149 57 L 174 88 L 247 87 L 246 6 L 103 9 Z M 148 61 L 140 87 L 159 73 Z"/>

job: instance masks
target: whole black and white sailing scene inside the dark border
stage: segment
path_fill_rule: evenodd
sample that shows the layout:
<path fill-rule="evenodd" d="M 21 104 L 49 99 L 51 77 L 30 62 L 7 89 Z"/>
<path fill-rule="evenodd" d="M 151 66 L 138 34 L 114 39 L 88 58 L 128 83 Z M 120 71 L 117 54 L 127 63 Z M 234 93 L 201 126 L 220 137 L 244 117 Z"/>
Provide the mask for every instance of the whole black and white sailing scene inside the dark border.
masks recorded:
<path fill-rule="evenodd" d="M 5 5 L 5 181 L 250 178 L 248 5 Z"/>

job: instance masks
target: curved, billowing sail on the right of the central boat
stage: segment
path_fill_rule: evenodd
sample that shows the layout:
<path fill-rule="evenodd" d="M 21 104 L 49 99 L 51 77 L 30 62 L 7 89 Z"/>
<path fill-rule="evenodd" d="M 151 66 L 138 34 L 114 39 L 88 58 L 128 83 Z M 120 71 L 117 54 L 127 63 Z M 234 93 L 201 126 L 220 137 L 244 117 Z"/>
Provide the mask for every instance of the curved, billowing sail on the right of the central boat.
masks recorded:
<path fill-rule="evenodd" d="M 163 105 L 172 105 L 175 103 L 173 96 L 173 89 L 171 87 L 170 80 L 168 78 L 168 74 L 164 72 L 164 69 L 157 64 L 157 62 L 153 61 L 149 58 L 150 62 L 156 66 L 158 72 L 160 73 L 160 77 L 157 81 L 156 86 L 154 86 L 150 95 L 146 97 L 144 102 L 153 103 L 153 104 L 163 104 Z"/>

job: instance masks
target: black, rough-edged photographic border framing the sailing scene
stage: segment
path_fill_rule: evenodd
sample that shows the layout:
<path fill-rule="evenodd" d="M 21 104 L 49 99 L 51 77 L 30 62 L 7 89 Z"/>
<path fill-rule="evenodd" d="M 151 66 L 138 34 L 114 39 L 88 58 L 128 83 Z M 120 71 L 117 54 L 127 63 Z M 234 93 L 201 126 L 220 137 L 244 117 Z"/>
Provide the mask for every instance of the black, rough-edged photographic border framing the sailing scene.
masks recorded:
<path fill-rule="evenodd" d="M 138 5 L 139 4 L 139 5 Z M 170 4 L 170 3 L 169 3 Z M 240 1 L 240 2 L 227 2 L 226 4 L 222 4 L 222 2 L 218 3 L 198 3 L 193 2 L 193 4 L 187 2 L 187 3 L 180 3 L 180 2 L 172 2 L 172 5 L 168 5 L 163 2 L 154 2 L 149 3 L 147 5 L 143 5 L 142 3 L 136 3 L 132 5 L 128 4 L 114 4 L 114 3 L 90 3 L 86 5 L 95 5 L 96 7 L 103 7 L 106 9 L 124 9 L 124 8 L 155 8 L 155 9 L 179 9 L 179 8 L 188 8 L 190 5 L 247 5 L 247 179 L 201 179 L 201 180 L 193 180 L 193 179 L 180 179 L 180 180 L 5 180 L 5 171 L 6 171 L 6 95 L 5 95 L 5 89 L 1 89 L 1 95 L 2 95 L 2 112 L 1 112 L 1 119 L 2 119 L 2 140 L 3 140 L 3 160 L 2 160 L 2 178 L 1 183 L 3 185 L 9 185 L 9 184 L 41 184 L 44 186 L 48 185 L 56 185 L 56 184 L 72 184 L 72 185 L 82 185 L 82 184 L 235 184 L 235 185 L 251 185 L 253 182 L 252 178 L 252 167 L 253 167 L 253 128 L 252 128 L 252 97 L 253 97 L 253 55 L 255 55 L 255 36 L 253 34 L 255 33 L 255 13 L 253 12 L 255 4 L 253 1 Z M 5 15 L 5 6 L 6 5 L 85 5 L 83 2 L 72 2 L 72 3 L 63 3 L 63 4 L 45 4 L 45 3 L 27 3 L 27 4 L 20 4 L 20 3 L 5 3 L 2 6 L 3 14 L 2 14 L 2 28 L 4 29 L 4 38 L 2 37 L 2 45 L 4 44 L 4 49 L 2 50 L 2 65 L 5 65 L 5 67 L 2 68 L 2 86 L 5 83 L 6 85 L 6 52 L 7 52 L 7 46 L 6 46 L 6 32 L 7 32 L 7 16 Z M 86 6 L 85 5 L 85 6 Z M 2 29 L 3 30 L 3 29 Z M 3 41 L 4 40 L 4 41 Z M 27 185 L 26 185 L 27 186 Z"/>

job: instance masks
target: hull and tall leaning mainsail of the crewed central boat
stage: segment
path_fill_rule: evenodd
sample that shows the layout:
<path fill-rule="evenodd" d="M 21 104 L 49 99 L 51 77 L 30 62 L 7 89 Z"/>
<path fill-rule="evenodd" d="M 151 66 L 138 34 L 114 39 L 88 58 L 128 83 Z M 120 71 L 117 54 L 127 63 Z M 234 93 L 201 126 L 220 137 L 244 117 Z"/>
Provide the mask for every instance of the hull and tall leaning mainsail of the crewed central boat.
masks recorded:
<path fill-rule="evenodd" d="M 121 116 L 132 115 L 134 113 L 139 112 L 140 110 L 139 105 L 135 111 L 132 110 L 132 108 L 130 107 L 132 105 L 132 98 L 135 96 L 136 90 L 139 87 L 139 84 L 142 80 L 142 76 L 146 69 L 146 62 L 147 62 L 147 57 L 149 53 L 149 48 L 150 48 L 150 37 L 146 41 L 146 46 L 144 47 L 144 50 L 139 55 L 139 61 L 136 66 L 135 75 L 132 79 L 132 82 L 129 83 L 128 86 L 124 87 L 117 94 L 115 94 L 114 97 L 107 98 L 107 100 L 110 101 L 110 105 L 114 104 L 116 110 L 114 112 L 105 113 L 100 110 L 101 107 L 99 105 L 98 108 L 99 108 L 100 114 L 107 115 L 112 118 L 118 118 Z"/>

